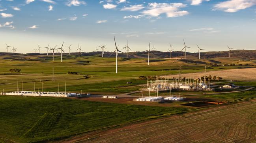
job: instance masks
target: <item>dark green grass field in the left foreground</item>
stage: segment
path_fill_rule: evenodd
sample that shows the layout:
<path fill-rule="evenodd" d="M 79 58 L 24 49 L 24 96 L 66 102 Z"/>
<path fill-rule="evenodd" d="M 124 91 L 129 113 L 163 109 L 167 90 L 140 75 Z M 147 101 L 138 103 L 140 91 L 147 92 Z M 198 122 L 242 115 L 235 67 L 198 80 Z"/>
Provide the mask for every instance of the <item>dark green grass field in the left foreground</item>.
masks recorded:
<path fill-rule="evenodd" d="M 185 111 L 66 98 L 0 96 L 0 142 L 53 140 Z"/>

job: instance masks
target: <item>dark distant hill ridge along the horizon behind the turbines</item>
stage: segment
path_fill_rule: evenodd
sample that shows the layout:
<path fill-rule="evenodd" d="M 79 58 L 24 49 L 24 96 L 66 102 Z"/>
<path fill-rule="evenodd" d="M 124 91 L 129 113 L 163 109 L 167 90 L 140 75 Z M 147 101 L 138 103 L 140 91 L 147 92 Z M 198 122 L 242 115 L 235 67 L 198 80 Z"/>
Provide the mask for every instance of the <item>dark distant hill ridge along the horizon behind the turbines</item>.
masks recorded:
<path fill-rule="evenodd" d="M 108 57 L 110 56 L 112 52 L 105 52 L 104 56 Z M 27 54 L 19 54 L 19 53 L 7 53 L 7 52 L 0 52 L 0 56 L 9 56 L 6 59 L 9 58 L 22 58 L 23 56 L 45 56 L 46 53 L 39 54 L 39 53 L 27 53 Z M 49 56 L 52 54 L 49 53 Z M 60 55 L 60 53 L 55 53 L 54 55 Z M 64 55 L 67 55 L 65 53 Z M 77 55 L 77 52 L 71 53 L 71 55 Z M 82 52 L 80 53 L 80 56 L 101 56 L 101 52 Z M 198 53 L 191 53 L 187 52 L 187 58 L 188 59 L 196 59 L 198 57 Z M 113 53 L 111 57 L 115 57 L 116 54 Z M 126 53 L 119 53 L 119 57 L 126 57 Z M 228 57 L 229 51 L 219 51 L 219 52 L 201 52 L 201 58 L 202 59 L 211 59 L 211 58 L 222 58 L 222 57 Z M 240 58 L 247 58 L 247 59 L 256 59 L 256 50 L 234 50 L 231 51 L 232 57 L 240 57 Z M 150 57 L 152 58 L 170 58 L 170 52 L 161 52 L 161 51 L 151 51 Z M 129 52 L 129 58 L 148 58 L 148 52 Z M 183 59 L 184 58 L 184 52 L 181 51 L 174 51 L 172 52 L 172 58 L 176 59 Z"/>

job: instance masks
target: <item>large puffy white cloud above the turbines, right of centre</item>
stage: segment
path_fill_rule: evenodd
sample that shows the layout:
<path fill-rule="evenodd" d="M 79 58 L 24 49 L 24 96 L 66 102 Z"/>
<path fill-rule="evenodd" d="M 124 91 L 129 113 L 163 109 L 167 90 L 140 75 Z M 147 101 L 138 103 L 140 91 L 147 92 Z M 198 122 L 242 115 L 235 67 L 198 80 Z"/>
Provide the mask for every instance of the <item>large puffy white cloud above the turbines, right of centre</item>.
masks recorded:
<path fill-rule="evenodd" d="M 178 17 L 189 14 L 188 11 L 180 11 L 180 8 L 187 5 L 182 3 L 149 3 L 149 10 L 142 11 L 143 14 L 158 17 L 160 14 L 165 13 L 167 17 Z"/>

